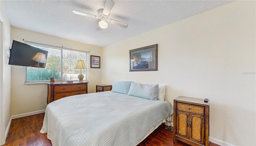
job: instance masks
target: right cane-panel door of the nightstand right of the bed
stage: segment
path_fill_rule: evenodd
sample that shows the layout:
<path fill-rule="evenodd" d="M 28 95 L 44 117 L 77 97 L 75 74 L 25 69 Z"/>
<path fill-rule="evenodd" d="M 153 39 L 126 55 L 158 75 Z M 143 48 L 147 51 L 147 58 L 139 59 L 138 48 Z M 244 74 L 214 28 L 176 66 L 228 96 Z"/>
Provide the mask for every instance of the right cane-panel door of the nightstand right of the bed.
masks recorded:
<path fill-rule="evenodd" d="M 189 139 L 204 144 L 204 116 L 190 113 L 189 127 Z"/>

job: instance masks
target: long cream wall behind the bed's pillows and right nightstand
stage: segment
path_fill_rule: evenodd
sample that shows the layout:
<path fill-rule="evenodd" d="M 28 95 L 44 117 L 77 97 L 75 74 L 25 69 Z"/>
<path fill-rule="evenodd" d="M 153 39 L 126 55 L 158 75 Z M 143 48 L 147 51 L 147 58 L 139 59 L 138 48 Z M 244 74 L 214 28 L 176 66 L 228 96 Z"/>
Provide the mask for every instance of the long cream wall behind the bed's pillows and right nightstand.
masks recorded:
<path fill-rule="evenodd" d="M 166 100 L 210 99 L 210 139 L 256 145 L 255 1 L 236 1 L 102 49 L 102 84 L 166 84 Z M 158 71 L 129 72 L 129 50 L 158 44 Z"/>

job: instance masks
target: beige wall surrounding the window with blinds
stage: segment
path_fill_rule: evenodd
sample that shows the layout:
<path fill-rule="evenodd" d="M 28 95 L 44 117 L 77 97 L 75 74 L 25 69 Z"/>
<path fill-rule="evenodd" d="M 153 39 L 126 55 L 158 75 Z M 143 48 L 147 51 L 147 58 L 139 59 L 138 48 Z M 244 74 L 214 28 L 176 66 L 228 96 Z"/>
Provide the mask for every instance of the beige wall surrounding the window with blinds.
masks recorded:
<path fill-rule="evenodd" d="M 48 36 L 20 28 L 11 27 L 11 39 L 23 42 L 38 42 L 53 46 L 63 46 L 75 50 L 90 51 L 90 55 L 101 56 L 102 48 L 65 40 L 54 36 Z M 90 59 L 89 63 L 90 64 Z M 101 83 L 101 69 L 88 66 L 88 93 L 96 92 L 96 84 Z M 49 80 L 50 81 L 50 80 Z M 47 84 L 24 84 L 24 67 L 11 66 L 11 114 L 25 114 L 38 110 L 45 110 L 47 97 Z"/>

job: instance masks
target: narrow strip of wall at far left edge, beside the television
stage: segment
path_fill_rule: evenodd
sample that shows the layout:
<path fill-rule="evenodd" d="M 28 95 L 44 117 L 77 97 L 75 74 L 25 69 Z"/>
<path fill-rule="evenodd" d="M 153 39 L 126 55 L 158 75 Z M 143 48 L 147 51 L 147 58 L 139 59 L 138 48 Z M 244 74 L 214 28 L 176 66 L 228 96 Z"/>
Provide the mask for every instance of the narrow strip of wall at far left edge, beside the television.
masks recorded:
<path fill-rule="evenodd" d="M 4 144 L 8 123 L 11 117 L 10 108 L 10 72 L 8 65 L 10 46 L 10 23 L 6 16 L 2 1 L 0 1 L 0 145 Z"/>

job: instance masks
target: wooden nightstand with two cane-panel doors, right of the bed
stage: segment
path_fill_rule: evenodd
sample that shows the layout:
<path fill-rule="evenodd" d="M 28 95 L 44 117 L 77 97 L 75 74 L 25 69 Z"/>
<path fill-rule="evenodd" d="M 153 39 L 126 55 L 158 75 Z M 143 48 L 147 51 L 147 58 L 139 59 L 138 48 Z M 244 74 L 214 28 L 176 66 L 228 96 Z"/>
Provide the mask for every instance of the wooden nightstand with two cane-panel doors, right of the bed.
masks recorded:
<path fill-rule="evenodd" d="M 173 142 L 191 146 L 209 145 L 210 100 L 179 96 L 174 99 Z"/>

